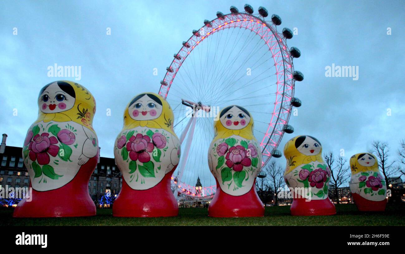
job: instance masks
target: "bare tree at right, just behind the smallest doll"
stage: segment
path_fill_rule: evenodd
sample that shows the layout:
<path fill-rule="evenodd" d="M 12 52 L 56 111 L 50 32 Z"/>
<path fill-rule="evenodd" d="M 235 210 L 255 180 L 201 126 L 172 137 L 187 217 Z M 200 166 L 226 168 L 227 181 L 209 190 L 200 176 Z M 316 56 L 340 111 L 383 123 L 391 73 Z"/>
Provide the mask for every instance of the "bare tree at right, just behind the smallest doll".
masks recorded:
<path fill-rule="evenodd" d="M 379 140 L 373 141 L 373 144 L 371 144 L 371 149 L 369 149 L 370 153 L 373 153 L 374 155 L 377 156 L 378 159 L 378 167 L 381 169 L 382 174 L 384 175 L 385 178 L 385 183 L 387 185 L 387 189 L 390 188 L 390 182 L 394 182 L 398 177 L 393 177 L 396 174 L 399 173 L 399 167 L 394 167 L 395 161 L 393 160 L 392 162 L 389 161 L 389 152 L 390 152 L 390 147 L 388 146 L 387 142 L 382 142 Z M 388 180 L 388 178 L 391 178 Z"/>

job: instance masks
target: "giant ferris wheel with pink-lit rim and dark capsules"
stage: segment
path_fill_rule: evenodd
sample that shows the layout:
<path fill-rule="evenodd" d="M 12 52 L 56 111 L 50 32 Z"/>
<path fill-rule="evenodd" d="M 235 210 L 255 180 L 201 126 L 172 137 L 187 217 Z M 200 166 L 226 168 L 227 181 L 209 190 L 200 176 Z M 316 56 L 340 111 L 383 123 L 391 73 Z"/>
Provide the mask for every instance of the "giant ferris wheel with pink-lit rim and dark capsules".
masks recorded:
<path fill-rule="evenodd" d="M 301 52 L 287 47 L 293 36 L 290 29 L 277 31 L 278 15 L 266 21 L 266 8 L 255 14 L 249 4 L 244 9 L 231 6 L 231 13 L 217 12 L 216 19 L 193 30 L 160 82 L 159 94 L 171 105 L 175 132 L 181 134 L 181 158 L 172 177 L 176 197 L 215 194 L 207 153 L 214 137 L 213 118 L 220 109 L 236 104 L 251 112 L 262 167 L 271 157 L 281 157 L 281 138 L 294 131 L 288 121 L 292 107 L 301 106 L 294 84 L 304 76 L 294 71 L 292 60 Z"/>

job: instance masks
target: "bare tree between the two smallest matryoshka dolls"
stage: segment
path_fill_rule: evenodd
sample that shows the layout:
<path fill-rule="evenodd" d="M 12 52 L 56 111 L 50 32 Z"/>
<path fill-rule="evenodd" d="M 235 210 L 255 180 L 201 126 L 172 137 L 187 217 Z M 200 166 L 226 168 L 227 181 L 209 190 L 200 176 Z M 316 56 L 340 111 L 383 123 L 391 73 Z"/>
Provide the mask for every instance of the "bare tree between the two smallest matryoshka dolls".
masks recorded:
<path fill-rule="evenodd" d="M 331 192 L 336 203 L 339 204 L 338 188 L 350 177 L 350 166 L 345 165 L 347 160 L 344 157 L 338 156 L 335 158 L 332 151 L 324 155 L 324 158 L 326 165 L 330 169 L 330 182 L 335 186 Z"/>

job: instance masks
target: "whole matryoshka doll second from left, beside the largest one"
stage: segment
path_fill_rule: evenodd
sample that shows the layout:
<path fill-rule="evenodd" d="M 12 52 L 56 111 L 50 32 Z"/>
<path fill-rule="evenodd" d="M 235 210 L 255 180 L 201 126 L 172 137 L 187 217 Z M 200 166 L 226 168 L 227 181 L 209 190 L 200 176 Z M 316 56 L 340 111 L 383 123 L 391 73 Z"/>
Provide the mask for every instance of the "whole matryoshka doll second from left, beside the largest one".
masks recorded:
<path fill-rule="evenodd" d="M 123 180 L 113 216 L 177 216 L 170 182 L 179 163 L 180 142 L 173 121 L 173 110 L 155 93 L 136 95 L 126 106 L 124 128 L 114 145 Z"/>

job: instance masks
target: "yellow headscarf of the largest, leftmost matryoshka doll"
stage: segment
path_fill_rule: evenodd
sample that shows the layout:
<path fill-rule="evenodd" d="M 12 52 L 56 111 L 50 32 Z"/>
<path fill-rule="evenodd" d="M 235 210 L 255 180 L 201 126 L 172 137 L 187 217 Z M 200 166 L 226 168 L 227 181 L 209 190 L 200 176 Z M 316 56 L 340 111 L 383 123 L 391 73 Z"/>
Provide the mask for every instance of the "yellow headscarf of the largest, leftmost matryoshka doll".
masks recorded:
<path fill-rule="evenodd" d="M 44 121 L 45 123 L 50 121 L 73 121 L 94 132 L 93 117 L 96 113 L 96 100 L 94 99 L 93 95 L 85 87 L 76 82 L 68 80 L 58 80 L 55 82 L 65 82 L 72 86 L 73 90 L 75 91 L 75 105 L 72 108 L 59 113 L 44 113 L 38 109 L 38 119 L 35 121 L 35 123 L 40 121 Z M 49 83 L 48 85 L 55 82 Z"/>

